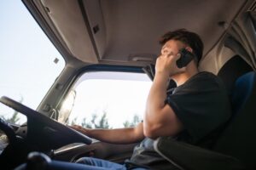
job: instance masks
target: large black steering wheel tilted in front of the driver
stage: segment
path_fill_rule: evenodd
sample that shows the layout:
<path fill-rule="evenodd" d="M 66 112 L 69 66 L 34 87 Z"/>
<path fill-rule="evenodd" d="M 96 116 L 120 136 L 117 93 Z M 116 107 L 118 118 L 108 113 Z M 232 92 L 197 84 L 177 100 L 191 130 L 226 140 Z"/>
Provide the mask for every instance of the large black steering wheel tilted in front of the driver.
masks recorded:
<path fill-rule="evenodd" d="M 48 116 L 44 116 L 38 111 L 26 107 L 26 105 L 22 105 L 5 96 L 1 97 L 0 102 L 26 116 L 26 140 L 30 144 L 39 147 L 40 150 L 55 150 L 63 145 L 72 143 L 91 144 L 92 140 L 83 133 L 79 133 L 60 122 L 56 122 Z M 4 128 L 4 123 L 2 123 L 2 127 Z M 8 124 L 6 124 L 5 128 L 9 129 Z M 11 134 L 11 136 L 13 136 L 13 134 Z"/>

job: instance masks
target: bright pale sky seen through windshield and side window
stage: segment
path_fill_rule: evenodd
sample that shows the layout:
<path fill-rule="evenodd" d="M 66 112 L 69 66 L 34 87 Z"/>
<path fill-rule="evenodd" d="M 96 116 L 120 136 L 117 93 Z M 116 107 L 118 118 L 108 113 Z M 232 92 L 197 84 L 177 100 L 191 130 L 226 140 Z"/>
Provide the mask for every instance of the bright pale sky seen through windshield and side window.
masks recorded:
<path fill-rule="evenodd" d="M 24 105 L 35 110 L 63 70 L 65 61 L 19 0 L 0 1 L 0 37 L 0 96 L 23 99 Z M 143 79 L 144 82 L 114 80 L 114 85 L 102 80 L 82 82 L 76 89 L 80 94 L 76 99 L 79 106 L 74 108 L 73 117 L 106 110 L 111 126 L 117 123 L 120 127 L 124 119 L 143 115 L 151 84 L 149 79 Z M 0 105 L 0 116 L 9 117 L 13 113 Z"/>

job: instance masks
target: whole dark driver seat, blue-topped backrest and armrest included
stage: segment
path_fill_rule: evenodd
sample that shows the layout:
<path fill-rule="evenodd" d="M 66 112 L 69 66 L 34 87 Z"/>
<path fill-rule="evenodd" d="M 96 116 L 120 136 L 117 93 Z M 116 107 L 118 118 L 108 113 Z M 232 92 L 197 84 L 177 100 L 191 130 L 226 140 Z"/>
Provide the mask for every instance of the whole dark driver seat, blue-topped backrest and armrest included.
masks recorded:
<path fill-rule="evenodd" d="M 154 149 L 179 169 L 256 169 L 256 72 L 236 80 L 231 94 L 233 115 L 212 150 L 184 144 L 168 137 Z"/>

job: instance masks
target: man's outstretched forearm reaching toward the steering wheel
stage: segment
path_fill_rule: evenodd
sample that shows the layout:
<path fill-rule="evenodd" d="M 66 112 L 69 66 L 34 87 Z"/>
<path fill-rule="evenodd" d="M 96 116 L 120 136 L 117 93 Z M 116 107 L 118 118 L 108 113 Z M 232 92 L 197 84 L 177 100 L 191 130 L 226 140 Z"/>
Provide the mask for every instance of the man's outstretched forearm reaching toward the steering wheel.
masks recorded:
<path fill-rule="evenodd" d="M 131 144 L 144 139 L 143 122 L 140 122 L 137 127 L 117 129 L 89 129 L 78 125 L 74 125 L 73 128 L 90 138 L 112 144 Z"/>

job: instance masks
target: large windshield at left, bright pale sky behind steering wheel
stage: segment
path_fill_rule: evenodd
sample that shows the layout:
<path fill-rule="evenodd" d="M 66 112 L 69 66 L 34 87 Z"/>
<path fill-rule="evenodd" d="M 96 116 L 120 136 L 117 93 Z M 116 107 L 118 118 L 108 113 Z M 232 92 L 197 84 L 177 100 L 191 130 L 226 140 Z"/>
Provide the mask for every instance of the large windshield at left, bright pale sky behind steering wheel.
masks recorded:
<path fill-rule="evenodd" d="M 0 23 L 0 96 L 36 110 L 65 61 L 21 1 L 0 2 Z M 0 106 L 4 120 L 26 122 L 14 116 L 15 111 Z"/>

